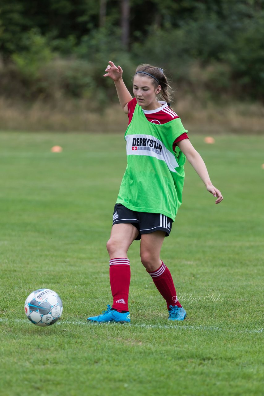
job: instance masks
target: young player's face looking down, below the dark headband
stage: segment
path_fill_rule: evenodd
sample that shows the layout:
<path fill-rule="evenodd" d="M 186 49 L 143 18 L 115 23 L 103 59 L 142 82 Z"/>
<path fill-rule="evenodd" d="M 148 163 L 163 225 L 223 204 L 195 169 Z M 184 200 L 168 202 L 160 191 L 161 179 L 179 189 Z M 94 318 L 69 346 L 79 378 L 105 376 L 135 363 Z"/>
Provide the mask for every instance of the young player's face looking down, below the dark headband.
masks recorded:
<path fill-rule="evenodd" d="M 144 110 L 155 110 L 160 107 L 157 101 L 157 94 L 160 92 L 161 86 L 155 88 L 152 77 L 142 77 L 137 74 L 133 80 L 133 93 L 137 99 L 137 103 Z"/>

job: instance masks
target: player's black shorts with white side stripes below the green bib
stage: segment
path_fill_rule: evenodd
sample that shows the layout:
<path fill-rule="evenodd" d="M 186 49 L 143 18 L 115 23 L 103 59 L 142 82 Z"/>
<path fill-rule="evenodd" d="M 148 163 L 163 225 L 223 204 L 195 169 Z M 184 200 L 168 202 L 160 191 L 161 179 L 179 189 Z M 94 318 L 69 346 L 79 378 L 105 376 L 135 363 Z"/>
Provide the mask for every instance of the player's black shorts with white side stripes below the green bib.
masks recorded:
<path fill-rule="evenodd" d="M 136 212 L 123 206 L 116 204 L 113 214 L 113 225 L 130 223 L 139 231 L 136 240 L 140 240 L 141 234 L 149 234 L 154 231 L 165 231 L 169 236 L 172 227 L 172 219 L 160 213 Z"/>

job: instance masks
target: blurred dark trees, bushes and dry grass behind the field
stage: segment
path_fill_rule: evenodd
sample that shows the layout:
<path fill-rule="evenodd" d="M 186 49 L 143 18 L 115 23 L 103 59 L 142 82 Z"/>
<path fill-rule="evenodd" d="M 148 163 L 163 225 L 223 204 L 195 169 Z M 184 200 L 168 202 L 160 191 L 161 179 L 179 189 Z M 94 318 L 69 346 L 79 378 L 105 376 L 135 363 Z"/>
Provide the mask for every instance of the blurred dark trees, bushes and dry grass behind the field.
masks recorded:
<path fill-rule="evenodd" d="M 1 1 L 2 129 L 123 130 L 112 60 L 162 67 L 185 124 L 261 132 L 263 38 L 263 0 Z"/>

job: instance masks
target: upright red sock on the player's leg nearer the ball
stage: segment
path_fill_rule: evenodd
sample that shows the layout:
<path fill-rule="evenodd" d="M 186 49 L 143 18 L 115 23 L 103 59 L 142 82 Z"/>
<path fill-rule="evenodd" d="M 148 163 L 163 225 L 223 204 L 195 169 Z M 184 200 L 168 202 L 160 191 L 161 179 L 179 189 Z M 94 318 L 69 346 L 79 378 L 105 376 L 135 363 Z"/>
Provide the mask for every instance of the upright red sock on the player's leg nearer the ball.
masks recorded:
<path fill-rule="evenodd" d="M 109 261 L 110 286 L 113 296 L 112 308 L 128 311 L 128 293 L 130 285 L 129 259 L 117 258 Z"/>

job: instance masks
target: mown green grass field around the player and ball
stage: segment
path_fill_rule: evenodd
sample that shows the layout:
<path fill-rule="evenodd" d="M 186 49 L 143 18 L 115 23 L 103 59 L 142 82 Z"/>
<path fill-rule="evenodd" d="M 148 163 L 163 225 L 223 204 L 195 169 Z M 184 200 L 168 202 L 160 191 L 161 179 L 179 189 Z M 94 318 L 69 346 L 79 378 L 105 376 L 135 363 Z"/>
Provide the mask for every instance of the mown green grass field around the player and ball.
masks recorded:
<path fill-rule="evenodd" d="M 0 133 L 1 396 L 263 394 L 264 137 L 190 138 L 224 201 L 186 164 L 161 258 L 187 319 L 168 322 L 134 242 L 131 324 L 95 325 L 87 316 L 111 303 L 105 244 L 123 136 Z M 63 300 L 51 327 L 23 311 L 41 287 Z"/>

